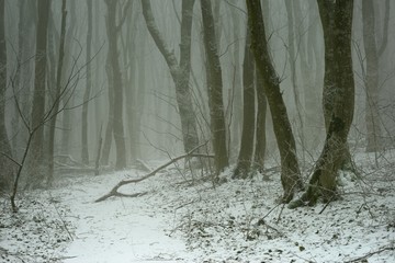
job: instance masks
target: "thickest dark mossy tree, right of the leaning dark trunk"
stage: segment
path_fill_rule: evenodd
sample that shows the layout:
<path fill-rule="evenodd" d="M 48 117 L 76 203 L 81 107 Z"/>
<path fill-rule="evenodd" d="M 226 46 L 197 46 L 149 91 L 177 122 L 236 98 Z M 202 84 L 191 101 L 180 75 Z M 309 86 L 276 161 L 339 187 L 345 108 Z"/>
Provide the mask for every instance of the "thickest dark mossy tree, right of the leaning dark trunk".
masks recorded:
<path fill-rule="evenodd" d="M 324 102 L 331 103 L 325 145 L 318 158 L 304 201 L 314 204 L 319 195 L 336 197 L 336 178 L 347 152 L 347 137 L 353 118 L 354 80 L 351 57 L 353 0 L 318 0 L 325 38 Z M 330 96 L 330 98 L 329 98 Z M 329 117 L 329 116 L 327 116 Z M 326 117 L 326 118 L 327 118 Z"/>

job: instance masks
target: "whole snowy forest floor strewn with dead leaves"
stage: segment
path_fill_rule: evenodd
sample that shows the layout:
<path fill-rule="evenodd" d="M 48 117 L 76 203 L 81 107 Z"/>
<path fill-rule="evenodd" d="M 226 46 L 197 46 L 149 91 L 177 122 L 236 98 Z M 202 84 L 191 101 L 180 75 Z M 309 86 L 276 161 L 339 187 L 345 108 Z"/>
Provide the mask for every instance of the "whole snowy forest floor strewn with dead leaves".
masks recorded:
<path fill-rule="evenodd" d="M 67 175 L 46 191 L 0 197 L 0 262 L 395 262 L 395 152 L 356 157 L 341 199 L 289 209 L 278 169 L 213 187 L 174 165 L 106 194 L 145 172 Z M 392 160 L 392 161 L 388 161 Z M 163 161 L 166 162 L 166 161 Z M 159 163 L 149 162 L 156 168 Z"/>

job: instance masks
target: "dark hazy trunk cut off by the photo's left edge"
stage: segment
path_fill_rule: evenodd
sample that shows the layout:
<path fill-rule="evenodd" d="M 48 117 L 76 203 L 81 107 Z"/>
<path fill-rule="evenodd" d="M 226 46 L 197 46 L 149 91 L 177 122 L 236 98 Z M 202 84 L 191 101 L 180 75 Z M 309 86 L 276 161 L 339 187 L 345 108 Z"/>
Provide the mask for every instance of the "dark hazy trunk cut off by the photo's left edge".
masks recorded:
<path fill-rule="evenodd" d="M 12 179 L 11 145 L 5 127 L 7 46 L 5 46 L 5 0 L 0 0 L 0 191 L 8 190 Z"/>

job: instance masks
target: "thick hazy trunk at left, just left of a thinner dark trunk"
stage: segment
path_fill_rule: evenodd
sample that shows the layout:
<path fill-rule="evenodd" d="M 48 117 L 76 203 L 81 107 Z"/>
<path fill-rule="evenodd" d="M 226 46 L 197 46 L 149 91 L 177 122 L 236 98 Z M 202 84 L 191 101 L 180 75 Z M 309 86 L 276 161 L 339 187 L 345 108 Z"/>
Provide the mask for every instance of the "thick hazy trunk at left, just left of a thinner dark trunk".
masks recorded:
<path fill-rule="evenodd" d="M 45 81 L 47 59 L 47 28 L 50 1 L 38 1 L 38 24 L 36 34 L 36 60 L 34 75 L 34 93 L 32 108 L 31 129 L 40 127 L 33 138 L 30 149 L 31 179 L 27 181 L 30 187 L 42 186 L 45 175 L 42 171 L 44 161 L 44 112 L 45 112 Z"/>

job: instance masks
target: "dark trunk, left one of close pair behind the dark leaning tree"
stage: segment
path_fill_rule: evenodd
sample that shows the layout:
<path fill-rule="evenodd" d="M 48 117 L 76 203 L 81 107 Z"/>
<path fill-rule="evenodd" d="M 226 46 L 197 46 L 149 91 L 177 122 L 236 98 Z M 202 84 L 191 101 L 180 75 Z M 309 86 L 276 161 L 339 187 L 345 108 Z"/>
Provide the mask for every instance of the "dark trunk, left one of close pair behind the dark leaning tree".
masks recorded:
<path fill-rule="evenodd" d="M 245 58 L 242 64 L 242 130 L 241 145 L 237 160 L 237 167 L 234 171 L 234 178 L 246 179 L 251 167 L 253 152 L 253 133 L 255 133 L 255 87 L 253 87 L 253 57 L 250 50 L 251 37 L 247 28 Z"/>

